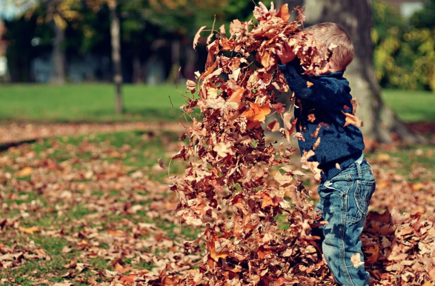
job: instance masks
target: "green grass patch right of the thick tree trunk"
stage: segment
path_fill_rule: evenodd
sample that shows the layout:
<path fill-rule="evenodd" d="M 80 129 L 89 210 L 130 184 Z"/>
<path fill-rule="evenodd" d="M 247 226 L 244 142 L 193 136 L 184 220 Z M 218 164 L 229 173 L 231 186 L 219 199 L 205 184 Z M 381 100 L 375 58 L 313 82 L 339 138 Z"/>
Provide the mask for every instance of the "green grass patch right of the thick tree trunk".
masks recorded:
<path fill-rule="evenodd" d="M 435 93 L 430 91 L 385 89 L 382 98 L 405 122 L 435 121 Z"/>

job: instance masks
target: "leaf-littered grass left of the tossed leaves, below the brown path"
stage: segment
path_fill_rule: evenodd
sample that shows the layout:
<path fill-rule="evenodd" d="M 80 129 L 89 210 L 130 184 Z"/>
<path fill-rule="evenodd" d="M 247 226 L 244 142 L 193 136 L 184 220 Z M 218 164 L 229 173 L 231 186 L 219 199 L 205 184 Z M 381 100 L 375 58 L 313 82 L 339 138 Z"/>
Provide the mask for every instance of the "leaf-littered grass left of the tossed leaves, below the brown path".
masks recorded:
<path fill-rule="evenodd" d="M 178 136 L 93 134 L 1 152 L 0 284 L 129 279 L 133 269 L 161 265 L 169 249 L 179 255 L 199 230 L 170 214 L 177 199 L 158 163 L 177 153 Z M 172 162 L 170 172 L 181 171 Z"/>

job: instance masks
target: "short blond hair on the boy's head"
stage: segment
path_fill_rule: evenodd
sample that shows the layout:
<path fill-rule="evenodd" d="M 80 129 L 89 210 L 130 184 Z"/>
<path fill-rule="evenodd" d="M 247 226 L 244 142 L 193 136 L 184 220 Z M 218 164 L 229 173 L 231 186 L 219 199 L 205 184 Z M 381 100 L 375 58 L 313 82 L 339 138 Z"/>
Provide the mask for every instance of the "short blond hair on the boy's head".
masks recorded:
<path fill-rule="evenodd" d="M 320 52 L 327 52 L 331 44 L 337 45 L 332 51 L 331 64 L 336 70 L 344 70 L 354 58 L 354 45 L 346 31 L 336 23 L 324 22 L 307 27 L 306 32 L 313 34 L 320 43 Z"/>

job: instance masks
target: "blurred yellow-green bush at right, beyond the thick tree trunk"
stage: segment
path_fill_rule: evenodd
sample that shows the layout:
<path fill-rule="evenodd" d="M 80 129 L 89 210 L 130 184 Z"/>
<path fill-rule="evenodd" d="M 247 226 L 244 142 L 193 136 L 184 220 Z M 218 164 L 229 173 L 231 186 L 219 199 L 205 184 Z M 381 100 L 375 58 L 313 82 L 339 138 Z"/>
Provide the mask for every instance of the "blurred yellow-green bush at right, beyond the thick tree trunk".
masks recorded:
<path fill-rule="evenodd" d="M 383 87 L 435 90 L 435 0 L 410 19 L 373 1 L 376 76 Z"/>

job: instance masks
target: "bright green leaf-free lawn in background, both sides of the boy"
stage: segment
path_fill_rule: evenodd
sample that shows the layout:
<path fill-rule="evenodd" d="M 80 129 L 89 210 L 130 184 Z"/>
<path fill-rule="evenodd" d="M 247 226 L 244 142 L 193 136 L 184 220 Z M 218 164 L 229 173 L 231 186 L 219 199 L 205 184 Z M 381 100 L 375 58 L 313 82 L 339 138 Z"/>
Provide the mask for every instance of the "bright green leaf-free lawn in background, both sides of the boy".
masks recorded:
<path fill-rule="evenodd" d="M 181 115 L 183 92 L 183 84 L 178 89 L 175 85 L 126 84 L 123 86 L 126 112 L 116 115 L 114 87 L 110 84 L 0 85 L 0 120 L 168 121 Z M 432 92 L 386 89 L 383 99 L 404 121 L 435 121 Z"/>

